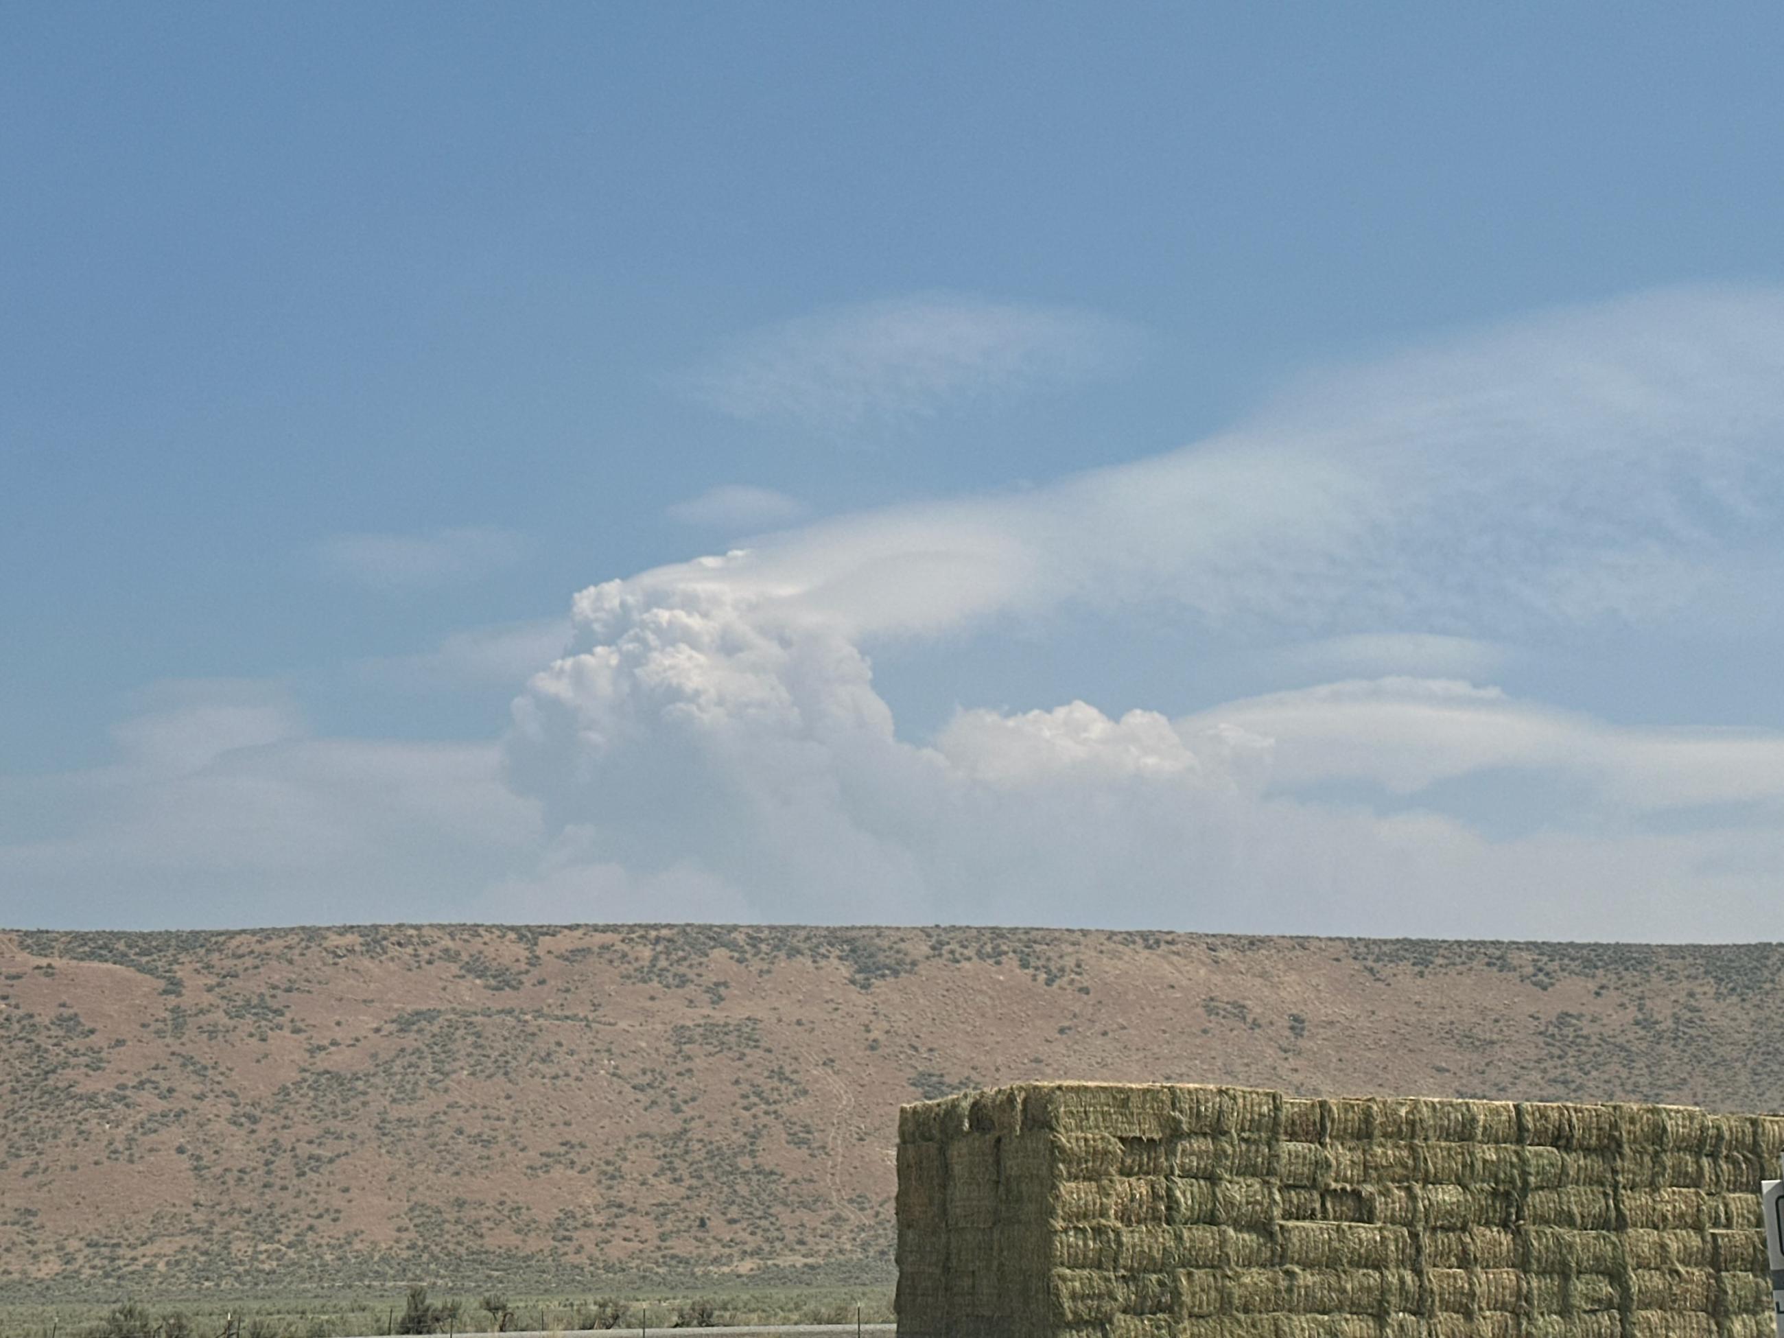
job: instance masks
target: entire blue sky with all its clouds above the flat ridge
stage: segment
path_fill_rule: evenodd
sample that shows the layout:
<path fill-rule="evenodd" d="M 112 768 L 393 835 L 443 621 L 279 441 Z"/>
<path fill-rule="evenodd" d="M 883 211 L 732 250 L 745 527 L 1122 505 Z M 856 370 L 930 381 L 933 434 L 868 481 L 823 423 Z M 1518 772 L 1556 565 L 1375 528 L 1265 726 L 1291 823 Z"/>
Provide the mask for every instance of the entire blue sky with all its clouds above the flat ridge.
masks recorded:
<path fill-rule="evenodd" d="M 0 922 L 1775 935 L 1780 39 L 11 5 Z"/>

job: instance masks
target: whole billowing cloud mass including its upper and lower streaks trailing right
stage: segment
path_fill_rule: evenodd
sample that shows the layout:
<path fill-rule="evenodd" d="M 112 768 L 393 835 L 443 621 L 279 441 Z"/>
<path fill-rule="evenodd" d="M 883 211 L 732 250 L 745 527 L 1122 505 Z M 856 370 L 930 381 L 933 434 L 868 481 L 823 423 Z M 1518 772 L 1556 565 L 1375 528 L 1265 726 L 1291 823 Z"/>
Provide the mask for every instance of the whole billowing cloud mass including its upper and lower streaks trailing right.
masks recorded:
<path fill-rule="evenodd" d="M 516 701 L 510 776 L 589 867 L 699 871 L 771 919 L 1741 937 L 1784 890 L 1773 735 L 1422 676 L 1176 721 L 974 708 L 913 742 L 867 649 L 1086 608 L 1429 671 L 1663 626 L 1775 553 L 1780 373 L 1779 294 L 1654 294 L 1309 378 L 1161 458 L 608 582 Z M 1518 767 L 1575 778 L 1602 821 L 1488 838 L 1436 799 L 1308 792 Z M 1730 801 L 1773 815 L 1643 826 Z"/>

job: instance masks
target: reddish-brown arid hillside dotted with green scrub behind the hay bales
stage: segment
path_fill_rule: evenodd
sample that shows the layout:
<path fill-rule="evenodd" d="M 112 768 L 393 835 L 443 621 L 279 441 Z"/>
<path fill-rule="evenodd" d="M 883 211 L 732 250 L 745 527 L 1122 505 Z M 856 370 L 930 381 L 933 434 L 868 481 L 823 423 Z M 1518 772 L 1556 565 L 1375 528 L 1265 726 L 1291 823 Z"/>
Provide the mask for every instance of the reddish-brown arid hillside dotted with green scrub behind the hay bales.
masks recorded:
<path fill-rule="evenodd" d="M 1020 1078 L 1784 1106 L 1784 947 L 0 931 L 0 1286 L 890 1272 L 899 1103 Z"/>

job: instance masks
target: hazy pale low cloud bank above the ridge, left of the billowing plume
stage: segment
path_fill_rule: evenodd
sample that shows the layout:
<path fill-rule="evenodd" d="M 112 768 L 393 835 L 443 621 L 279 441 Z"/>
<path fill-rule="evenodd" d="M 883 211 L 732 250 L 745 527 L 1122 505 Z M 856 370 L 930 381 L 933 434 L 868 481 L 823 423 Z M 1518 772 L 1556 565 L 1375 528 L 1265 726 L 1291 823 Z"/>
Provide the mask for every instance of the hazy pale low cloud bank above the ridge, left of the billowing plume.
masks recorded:
<path fill-rule="evenodd" d="M 162 685 L 141 706 L 116 762 L 0 778 L 9 924 L 439 919 L 537 851 L 492 744 L 318 737 L 253 681 Z"/>

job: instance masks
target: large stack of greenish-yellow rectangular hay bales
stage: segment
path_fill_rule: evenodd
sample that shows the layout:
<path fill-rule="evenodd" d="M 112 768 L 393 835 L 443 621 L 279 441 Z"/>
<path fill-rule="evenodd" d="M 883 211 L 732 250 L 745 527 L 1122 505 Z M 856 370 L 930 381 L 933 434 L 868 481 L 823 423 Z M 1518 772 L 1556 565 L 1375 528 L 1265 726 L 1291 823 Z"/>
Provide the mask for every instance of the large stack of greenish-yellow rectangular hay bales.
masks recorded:
<path fill-rule="evenodd" d="M 899 1113 L 899 1338 L 1772 1338 L 1784 1117 L 1029 1083 Z"/>

